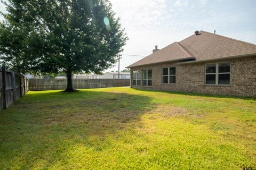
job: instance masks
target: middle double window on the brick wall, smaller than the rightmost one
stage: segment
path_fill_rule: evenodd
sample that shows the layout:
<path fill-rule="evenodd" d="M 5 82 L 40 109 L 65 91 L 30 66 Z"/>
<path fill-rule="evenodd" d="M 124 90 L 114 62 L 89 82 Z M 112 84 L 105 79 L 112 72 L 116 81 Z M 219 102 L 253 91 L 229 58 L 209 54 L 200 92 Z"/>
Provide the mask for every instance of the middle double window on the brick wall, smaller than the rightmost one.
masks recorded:
<path fill-rule="evenodd" d="M 164 84 L 176 83 L 176 67 L 166 67 L 162 70 L 162 81 Z"/>

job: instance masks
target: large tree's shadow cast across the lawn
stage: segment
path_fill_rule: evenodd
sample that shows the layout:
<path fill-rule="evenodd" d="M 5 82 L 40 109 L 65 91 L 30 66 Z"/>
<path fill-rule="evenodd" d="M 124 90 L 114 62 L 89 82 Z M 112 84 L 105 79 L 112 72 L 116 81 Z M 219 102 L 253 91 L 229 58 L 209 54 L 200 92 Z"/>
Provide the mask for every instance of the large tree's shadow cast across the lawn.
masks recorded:
<path fill-rule="evenodd" d="M 70 159 L 73 146 L 101 151 L 109 135 L 137 128 L 141 115 L 155 107 L 142 95 L 31 92 L 0 114 L 0 166 L 49 168 Z"/>

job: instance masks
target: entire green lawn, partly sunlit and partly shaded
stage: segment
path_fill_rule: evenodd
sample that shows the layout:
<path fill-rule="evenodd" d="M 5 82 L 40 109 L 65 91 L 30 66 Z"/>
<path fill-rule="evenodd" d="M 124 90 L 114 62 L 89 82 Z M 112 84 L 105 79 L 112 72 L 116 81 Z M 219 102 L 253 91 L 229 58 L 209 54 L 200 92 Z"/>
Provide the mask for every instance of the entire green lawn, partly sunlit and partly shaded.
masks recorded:
<path fill-rule="evenodd" d="M 0 111 L 1 169 L 256 168 L 256 99 L 30 91 Z"/>

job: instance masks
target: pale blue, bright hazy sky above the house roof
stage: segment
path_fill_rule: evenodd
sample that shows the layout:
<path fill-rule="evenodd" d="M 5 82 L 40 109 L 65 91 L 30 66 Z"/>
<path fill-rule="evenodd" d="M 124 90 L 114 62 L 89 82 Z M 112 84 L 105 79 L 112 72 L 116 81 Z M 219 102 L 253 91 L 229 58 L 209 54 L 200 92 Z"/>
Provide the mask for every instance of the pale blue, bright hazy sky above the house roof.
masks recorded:
<path fill-rule="evenodd" d="M 122 54 L 147 56 L 204 30 L 256 44 L 256 1 L 110 0 L 129 37 Z M 1 4 L 0 11 L 4 10 Z M 143 57 L 123 56 L 121 70 Z M 106 71 L 117 70 L 117 66 Z"/>

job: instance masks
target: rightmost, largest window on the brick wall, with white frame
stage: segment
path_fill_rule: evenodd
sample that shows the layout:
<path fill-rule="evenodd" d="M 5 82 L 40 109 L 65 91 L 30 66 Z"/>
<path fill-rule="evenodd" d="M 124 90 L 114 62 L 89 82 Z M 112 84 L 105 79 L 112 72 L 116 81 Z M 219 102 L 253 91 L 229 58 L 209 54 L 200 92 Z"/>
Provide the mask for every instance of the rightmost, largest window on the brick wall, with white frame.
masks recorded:
<path fill-rule="evenodd" d="M 205 84 L 229 85 L 230 63 L 213 63 L 205 65 Z"/>

